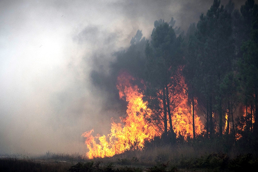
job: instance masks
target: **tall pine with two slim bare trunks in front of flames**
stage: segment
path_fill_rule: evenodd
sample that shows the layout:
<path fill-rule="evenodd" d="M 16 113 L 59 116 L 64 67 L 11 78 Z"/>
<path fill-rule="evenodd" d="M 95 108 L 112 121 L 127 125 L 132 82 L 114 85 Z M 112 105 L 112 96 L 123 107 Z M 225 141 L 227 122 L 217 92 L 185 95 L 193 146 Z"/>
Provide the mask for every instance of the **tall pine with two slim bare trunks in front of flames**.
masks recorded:
<path fill-rule="evenodd" d="M 151 41 L 146 45 L 145 81 L 147 88 L 144 93 L 144 100 L 150 107 L 150 105 L 153 105 L 153 100 L 157 102 L 157 99 L 153 98 L 153 96 L 158 96 L 159 106 L 163 106 L 164 135 L 167 136 L 168 115 L 171 140 L 175 143 L 176 135 L 173 130 L 171 116 L 173 115 L 173 102 L 182 89 L 181 87 L 178 89 L 180 80 L 178 69 L 182 60 L 182 38 L 181 36 L 177 38 L 172 26 L 162 19 L 155 21 L 154 26 Z"/>

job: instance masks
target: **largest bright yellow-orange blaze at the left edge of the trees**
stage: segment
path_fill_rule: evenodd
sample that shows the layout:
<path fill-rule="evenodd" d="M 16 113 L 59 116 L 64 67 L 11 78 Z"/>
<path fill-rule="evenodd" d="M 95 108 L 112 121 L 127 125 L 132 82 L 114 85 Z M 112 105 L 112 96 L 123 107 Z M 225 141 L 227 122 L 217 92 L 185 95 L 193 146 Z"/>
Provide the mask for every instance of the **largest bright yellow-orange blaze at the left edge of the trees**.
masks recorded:
<path fill-rule="evenodd" d="M 82 134 L 86 137 L 85 144 L 89 149 L 87 156 L 90 159 L 111 157 L 130 149 L 142 149 L 145 141 L 153 139 L 158 134 L 144 117 L 146 104 L 142 101 L 143 95 L 139 92 L 137 85 L 131 85 L 132 80 L 134 79 L 126 73 L 118 77 L 117 88 L 120 98 L 125 98 L 128 105 L 126 118 L 121 117 L 121 123 L 112 122 L 111 133 L 107 135 L 109 142 L 105 135 L 98 134 L 93 137 L 91 135 L 93 130 Z M 99 140 L 99 144 L 95 139 Z"/>

